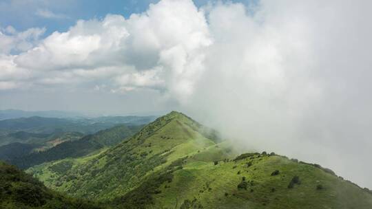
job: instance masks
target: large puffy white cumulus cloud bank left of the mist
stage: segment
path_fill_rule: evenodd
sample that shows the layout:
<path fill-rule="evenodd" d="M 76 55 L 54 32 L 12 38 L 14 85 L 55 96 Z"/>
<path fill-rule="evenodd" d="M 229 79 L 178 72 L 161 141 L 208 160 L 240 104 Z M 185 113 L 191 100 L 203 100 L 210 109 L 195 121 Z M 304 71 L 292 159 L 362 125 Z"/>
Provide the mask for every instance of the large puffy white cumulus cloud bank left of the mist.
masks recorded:
<path fill-rule="evenodd" d="M 74 76 L 116 69 L 112 89 L 166 89 L 185 99 L 203 72 L 203 50 L 210 44 L 203 11 L 192 1 L 168 0 L 129 19 L 109 14 L 77 21 L 67 32 L 54 32 L 17 54 L 12 62 L 42 75 L 32 79 L 33 84 L 84 82 Z M 56 74 L 58 78 L 50 78 Z M 94 79 L 101 78 L 87 81 Z"/>

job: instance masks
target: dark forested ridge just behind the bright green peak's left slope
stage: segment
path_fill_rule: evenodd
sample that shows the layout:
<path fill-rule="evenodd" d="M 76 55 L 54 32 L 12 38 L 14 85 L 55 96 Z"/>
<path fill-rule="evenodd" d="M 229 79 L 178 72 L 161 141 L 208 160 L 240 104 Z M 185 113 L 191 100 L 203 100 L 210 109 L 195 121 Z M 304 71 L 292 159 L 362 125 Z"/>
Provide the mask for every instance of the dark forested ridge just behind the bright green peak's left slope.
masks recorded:
<path fill-rule="evenodd" d="M 30 153 L 21 157 L 13 157 L 8 162 L 19 168 L 29 168 L 43 162 L 50 162 L 66 157 L 82 157 L 98 151 L 105 146 L 111 146 L 121 142 L 126 137 L 136 133 L 141 126 L 120 125 L 111 129 L 99 131 L 93 135 L 86 135 L 79 140 L 73 140 L 58 144 L 46 151 Z"/>

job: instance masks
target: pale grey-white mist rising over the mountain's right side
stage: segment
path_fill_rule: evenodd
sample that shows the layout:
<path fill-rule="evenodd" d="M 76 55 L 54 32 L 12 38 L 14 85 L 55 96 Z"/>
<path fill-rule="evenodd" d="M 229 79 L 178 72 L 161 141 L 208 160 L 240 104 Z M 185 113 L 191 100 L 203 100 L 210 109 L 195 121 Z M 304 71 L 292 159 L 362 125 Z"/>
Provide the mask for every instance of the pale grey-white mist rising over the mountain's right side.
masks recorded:
<path fill-rule="evenodd" d="M 214 44 L 185 109 L 240 148 L 316 162 L 371 188 L 370 6 L 260 1 L 251 13 L 239 4 L 212 7 Z"/>

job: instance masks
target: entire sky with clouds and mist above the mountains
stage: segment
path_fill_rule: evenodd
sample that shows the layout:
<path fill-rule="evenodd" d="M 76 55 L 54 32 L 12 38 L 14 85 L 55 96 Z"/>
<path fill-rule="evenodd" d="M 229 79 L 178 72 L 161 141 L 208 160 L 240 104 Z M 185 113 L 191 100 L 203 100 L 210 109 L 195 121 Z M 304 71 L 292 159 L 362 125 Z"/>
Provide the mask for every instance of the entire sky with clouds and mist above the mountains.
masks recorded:
<path fill-rule="evenodd" d="M 371 6 L 1 1 L 0 109 L 176 109 L 372 188 Z"/>

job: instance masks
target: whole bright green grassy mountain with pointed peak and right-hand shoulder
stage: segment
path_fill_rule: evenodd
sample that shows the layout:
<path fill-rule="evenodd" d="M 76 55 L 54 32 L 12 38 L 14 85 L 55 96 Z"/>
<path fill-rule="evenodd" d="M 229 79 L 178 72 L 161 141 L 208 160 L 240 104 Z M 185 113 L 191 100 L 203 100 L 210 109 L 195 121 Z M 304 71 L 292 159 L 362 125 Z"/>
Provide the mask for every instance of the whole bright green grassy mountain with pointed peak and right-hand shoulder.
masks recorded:
<path fill-rule="evenodd" d="M 274 153 L 238 155 L 177 112 L 100 153 L 28 172 L 112 208 L 372 208 L 371 191 L 329 169 Z"/>

